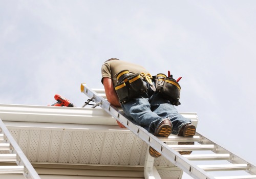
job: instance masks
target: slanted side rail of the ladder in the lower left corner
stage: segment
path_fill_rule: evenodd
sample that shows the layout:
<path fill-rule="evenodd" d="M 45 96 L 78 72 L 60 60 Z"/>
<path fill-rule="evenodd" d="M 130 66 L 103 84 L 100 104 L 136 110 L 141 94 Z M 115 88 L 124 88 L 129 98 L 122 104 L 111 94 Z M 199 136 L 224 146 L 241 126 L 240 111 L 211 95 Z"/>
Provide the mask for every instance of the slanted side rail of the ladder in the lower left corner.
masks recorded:
<path fill-rule="evenodd" d="M 29 162 L 29 160 L 27 159 L 26 155 L 23 153 L 22 149 L 18 146 L 17 142 L 12 137 L 11 133 L 9 132 L 9 130 L 7 129 L 7 127 L 5 126 L 1 118 L 0 118 L 0 128 L 1 128 L 1 132 L 5 134 L 8 142 L 10 142 L 11 144 L 11 146 L 9 145 L 9 147 L 11 147 L 10 149 L 12 153 L 17 154 L 17 158 L 18 158 L 18 160 L 16 161 L 17 165 L 20 167 L 25 166 L 24 168 L 25 172 L 23 172 L 24 176 L 26 178 L 40 178 L 37 172 L 35 171 L 35 169 L 33 168 L 33 166 L 31 165 L 31 163 Z M 4 145 L 4 146 L 8 147 L 7 145 Z"/>

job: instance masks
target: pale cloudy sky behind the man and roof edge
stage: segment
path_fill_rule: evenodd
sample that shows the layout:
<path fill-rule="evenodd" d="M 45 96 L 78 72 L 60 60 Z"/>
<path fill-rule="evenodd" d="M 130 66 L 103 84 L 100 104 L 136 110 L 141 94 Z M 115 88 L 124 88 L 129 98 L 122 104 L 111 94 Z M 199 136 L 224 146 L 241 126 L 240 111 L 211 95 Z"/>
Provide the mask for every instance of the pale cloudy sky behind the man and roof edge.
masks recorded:
<path fill-rule="evenodd" d="M 0 1 L 0 103 L 81 107 L 119 58 L 182 77 L 197 131 L 256 163 L 256 1 Z"/>

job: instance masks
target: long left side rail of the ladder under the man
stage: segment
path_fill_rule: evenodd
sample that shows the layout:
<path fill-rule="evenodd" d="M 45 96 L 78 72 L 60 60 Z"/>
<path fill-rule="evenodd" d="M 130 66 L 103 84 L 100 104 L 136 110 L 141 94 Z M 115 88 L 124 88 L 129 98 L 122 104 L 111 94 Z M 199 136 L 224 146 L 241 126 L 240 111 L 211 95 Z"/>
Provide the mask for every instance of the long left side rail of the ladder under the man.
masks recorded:
<path fill-rule="evenodd" d="M 167 160 L 178 166 L 193 178 L 214 178 L 200 167 L 193 165 L 193 163 L 191 163 L 188 159 L 184 158 L 176 150 L 168 147 L 168 145 L 160 141 L 157 137 L 151 133 L 148 133 L 148 131 L 143 127 L 135 125 L 132 121 L 122 115 L 120 110 L 111 105 L 109 101 L 106 101 L 103 97 L 93 92 L 92 89 L 87 87 L 85 84 L 81 84 L 81 92 L 86 94 L 89 98 L 93 99 L 94 103 L 102 107 L 107 113 L 113 116 L 127 129 L 131 130 L 137 137 L 160 152 Z"/>

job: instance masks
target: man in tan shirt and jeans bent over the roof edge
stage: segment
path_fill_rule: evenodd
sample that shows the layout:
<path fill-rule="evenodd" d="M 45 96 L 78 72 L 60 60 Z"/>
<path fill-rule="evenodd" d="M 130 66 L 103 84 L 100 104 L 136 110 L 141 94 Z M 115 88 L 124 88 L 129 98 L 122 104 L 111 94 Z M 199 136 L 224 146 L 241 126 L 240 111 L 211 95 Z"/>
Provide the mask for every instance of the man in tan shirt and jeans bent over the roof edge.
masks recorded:
<path fill-rule="evenodd" d="M 144 80 L 141 73 L 145 74 Z M 152 76 L 143 66 L 111 58 L 102 65 L 101 74 L 108 101 L 121 106 L 128 118 L 148 132 L 159 137 L 168 137 L 170 133 L 184 137 L 195 135 L 196 127 L 178 113 L 170 100 L 155 91 Z M 124 127 L 119 122 L 118 125 Z M 149 152 L 155 158 L 161 155 L 152 147 Z M 191 151 L 180 153 L 190 154 Z"/>

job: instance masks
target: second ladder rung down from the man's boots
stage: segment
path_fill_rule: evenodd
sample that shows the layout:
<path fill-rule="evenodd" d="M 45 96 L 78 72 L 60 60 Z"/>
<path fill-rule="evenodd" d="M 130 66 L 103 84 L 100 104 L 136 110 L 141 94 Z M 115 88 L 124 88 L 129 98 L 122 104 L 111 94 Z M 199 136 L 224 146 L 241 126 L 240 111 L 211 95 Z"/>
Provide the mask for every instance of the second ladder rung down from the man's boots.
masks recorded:
<path fill-rule="evenodd" d="M 192 151 L 192 150 L 214 150 L 214 145 L 168 145 L 177 151 Z"/>

